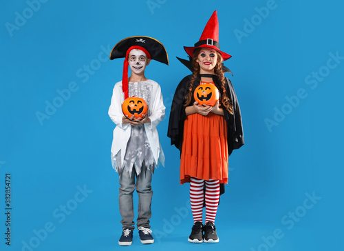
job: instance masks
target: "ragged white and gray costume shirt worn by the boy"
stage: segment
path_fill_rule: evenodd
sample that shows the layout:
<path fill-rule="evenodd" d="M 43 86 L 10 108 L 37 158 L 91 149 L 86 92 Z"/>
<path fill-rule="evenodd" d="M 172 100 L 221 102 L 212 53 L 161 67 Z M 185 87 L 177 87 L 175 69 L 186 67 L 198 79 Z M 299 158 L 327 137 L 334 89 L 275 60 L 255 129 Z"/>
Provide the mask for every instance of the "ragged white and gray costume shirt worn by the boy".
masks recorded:
<path fill-rule="evenodd" d="M 112 165 L 118 174 L 123 171 L 131 174 L 133 166 L 140 174 L 142 163 L 153 172 L 154 166 L 164 165 L 164 153 L 156 129 L 165 112 L 160 86 L 153 80 L 147 80 L 129 83 L 128 87 L 129 97 L 136 96 L 146 101 L 151 123 L 135 126 L 122 123 L 124 93 L 122 82 L 116 83 L 109 108 L 109 117 L 116 123 L 111 146 Z"/>

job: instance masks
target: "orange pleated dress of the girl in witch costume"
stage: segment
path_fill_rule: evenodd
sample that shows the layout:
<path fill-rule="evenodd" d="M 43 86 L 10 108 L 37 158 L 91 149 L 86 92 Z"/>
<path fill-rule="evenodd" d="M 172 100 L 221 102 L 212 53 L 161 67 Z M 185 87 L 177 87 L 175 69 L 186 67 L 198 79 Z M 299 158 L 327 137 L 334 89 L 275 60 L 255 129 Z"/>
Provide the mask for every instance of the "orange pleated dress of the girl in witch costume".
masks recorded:
<path fill-rule="evenodd" d="M 219 179 L 228 183 L 227 125 L 224 117 L 195 113 L 184 121 L 180 183 L 197 179 Z"/>

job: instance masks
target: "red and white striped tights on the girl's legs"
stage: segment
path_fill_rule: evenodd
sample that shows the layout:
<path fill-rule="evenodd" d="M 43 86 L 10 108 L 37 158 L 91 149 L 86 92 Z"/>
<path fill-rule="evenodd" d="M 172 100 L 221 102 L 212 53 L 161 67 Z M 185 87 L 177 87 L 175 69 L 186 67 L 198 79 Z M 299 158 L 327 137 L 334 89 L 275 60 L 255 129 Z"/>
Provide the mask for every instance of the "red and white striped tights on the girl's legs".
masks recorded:
<path fill-rule="evenodd" d="M 190 180 L 190 201 L 193 212 L 193 222 L 202 221 L 204 203 L 204 182 L 206 183 L 206 222 L 215 223 L 217 205 L 219 204 L 219 180 L 204 181 L 191 177 Z"/>

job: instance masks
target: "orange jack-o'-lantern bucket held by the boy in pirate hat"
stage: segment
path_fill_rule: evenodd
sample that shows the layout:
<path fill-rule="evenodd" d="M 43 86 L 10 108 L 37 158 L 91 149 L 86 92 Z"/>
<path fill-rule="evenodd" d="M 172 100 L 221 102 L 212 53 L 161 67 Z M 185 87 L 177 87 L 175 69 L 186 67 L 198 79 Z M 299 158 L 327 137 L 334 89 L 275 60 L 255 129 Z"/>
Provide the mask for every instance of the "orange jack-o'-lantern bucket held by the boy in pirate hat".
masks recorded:
<path fill-rule="evenodd" d="M 138 97 L 127 98 L 122 103 L 122 112 L 129 118 L 134 115 L 135 119 L 143 119 L 142 114 L 147 114 L 147 110 L 146 101 Z"/>

